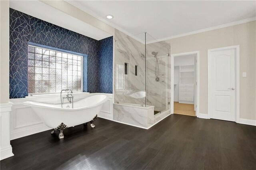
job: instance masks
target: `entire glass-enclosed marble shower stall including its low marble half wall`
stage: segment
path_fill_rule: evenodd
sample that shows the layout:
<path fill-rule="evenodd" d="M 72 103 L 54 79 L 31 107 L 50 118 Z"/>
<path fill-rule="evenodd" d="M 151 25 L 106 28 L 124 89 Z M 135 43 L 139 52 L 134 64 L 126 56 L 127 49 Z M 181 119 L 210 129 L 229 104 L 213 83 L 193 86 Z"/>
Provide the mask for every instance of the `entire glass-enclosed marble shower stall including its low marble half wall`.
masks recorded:
<path fill-rule="evenodd" d="M 113 119 L 149 128 L 170 115 L 170 44 L 119 30 L 114 40 Z"/>

